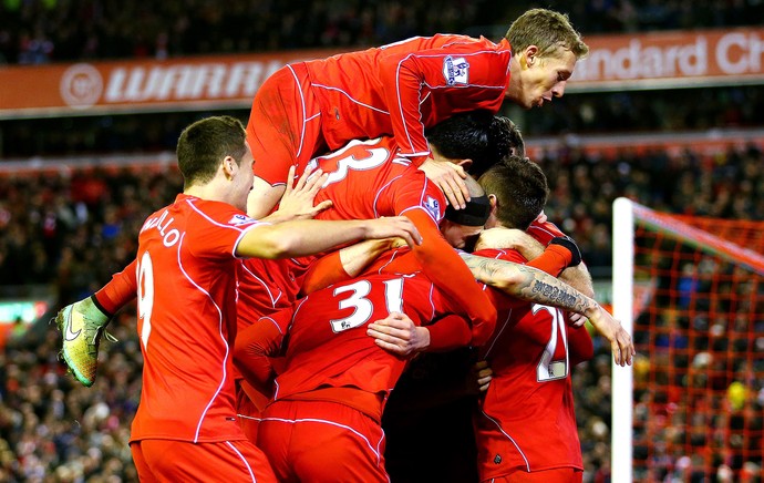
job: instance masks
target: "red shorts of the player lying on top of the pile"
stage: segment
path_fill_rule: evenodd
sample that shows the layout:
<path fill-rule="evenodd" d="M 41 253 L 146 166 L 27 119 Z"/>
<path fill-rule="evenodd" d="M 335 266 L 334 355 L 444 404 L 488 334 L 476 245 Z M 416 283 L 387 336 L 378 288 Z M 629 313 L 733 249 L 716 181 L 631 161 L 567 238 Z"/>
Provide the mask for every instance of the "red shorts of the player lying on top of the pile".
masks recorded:
<path fill-rule="evenodd" d="M 304 63 L 288 64 L 255 94 L 247 123 L 255 176 L 271 186 L 287 181 L 289 167 L 301 175 L 308 162 L 328 151 L 321 133 L 321 109 L 310 88 Z"/>

